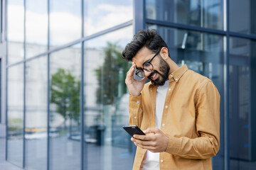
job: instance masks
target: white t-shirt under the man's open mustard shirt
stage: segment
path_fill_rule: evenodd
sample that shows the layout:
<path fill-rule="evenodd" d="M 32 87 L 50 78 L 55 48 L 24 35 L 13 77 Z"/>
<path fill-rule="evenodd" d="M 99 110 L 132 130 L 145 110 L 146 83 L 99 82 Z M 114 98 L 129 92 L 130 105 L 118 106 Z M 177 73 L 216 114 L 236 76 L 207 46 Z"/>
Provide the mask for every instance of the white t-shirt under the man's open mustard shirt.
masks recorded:
<path fill-rule="evenodd" d="M 167 80 L 164 86 L 158 86 L 156 90 L 156 128 L 161 129 L 161 118 L 164 111 L 164 103 L 166 99 L 167 89 L 169 87 L 169 80 Z M 159 153 L 153 153 L 146 150 L 146 159 L 143 162 L 143 170 L 159 170 Z"/>

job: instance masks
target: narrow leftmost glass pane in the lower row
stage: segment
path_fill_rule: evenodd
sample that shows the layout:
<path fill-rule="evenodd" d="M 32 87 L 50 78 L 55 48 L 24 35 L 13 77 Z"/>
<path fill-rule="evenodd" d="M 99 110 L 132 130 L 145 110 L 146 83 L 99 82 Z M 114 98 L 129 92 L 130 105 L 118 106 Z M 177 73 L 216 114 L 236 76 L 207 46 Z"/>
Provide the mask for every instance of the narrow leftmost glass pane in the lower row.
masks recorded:
<path fill-rule="evenodd" d="M 8 69 L 7 159 L 23 166 L 23 64 Z"/>

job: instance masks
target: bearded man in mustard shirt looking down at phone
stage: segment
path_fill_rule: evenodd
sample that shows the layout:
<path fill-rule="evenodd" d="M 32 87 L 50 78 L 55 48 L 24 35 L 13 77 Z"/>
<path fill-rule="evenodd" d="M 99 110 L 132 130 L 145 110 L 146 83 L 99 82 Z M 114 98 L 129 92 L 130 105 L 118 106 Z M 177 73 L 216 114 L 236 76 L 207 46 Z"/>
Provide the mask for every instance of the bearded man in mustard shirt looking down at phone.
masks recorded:
<path fill-rule="evenodd" d="M 122 57 L 132 61 L 125 80 L 129 124 L 146 134 L 131 139 L 133 169 L 212 169 L 210 157 L 220 147 L 220 95 L 213 82 L 178 67 L 156 30 L 139 30 Z"/>

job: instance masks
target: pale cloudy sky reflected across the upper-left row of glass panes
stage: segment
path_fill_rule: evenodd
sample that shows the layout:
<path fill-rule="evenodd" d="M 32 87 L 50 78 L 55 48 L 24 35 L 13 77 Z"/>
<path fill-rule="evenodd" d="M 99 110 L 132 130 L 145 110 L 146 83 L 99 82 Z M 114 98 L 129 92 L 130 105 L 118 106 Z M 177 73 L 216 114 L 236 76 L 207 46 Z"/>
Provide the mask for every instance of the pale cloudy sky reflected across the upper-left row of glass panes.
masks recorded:
<path fill-rule="evenodd" d="M 85 0 L 85 35 L 132 20 L 132 0 Z M 23 1 L 9 0 L 9 41 L 23 42 Z M 26 1 L 27 42 L 46 45 L 47 1 Z M 50 1 L 50 43 L 63 45 L 81 38 L 81 1 Z M 123 35 L 119 35 L 123 36 Z M 124 35 L 125 36 L 125 35 Z"/>

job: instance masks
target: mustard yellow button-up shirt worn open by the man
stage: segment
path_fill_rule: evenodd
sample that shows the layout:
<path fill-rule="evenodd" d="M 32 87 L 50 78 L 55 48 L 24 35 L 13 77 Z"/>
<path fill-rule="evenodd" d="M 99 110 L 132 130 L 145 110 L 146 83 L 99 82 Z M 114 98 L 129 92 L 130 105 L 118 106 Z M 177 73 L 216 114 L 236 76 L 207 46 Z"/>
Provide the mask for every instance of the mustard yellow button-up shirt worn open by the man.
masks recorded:
<path fill-rule="evenodd" d="M 179 67 L 169 75 L 161 130 L 169 137 L 160 153 L 160 169 L 212 169 L 210 157 L 220 148 L 220 95 L 212 81 Z M 145 84 L 140 96 L 129 96 L 129 125 L 155 128 L 157 86 Z M 140 169 L 146 149 L 137 147 L 133 169 Z"/>

